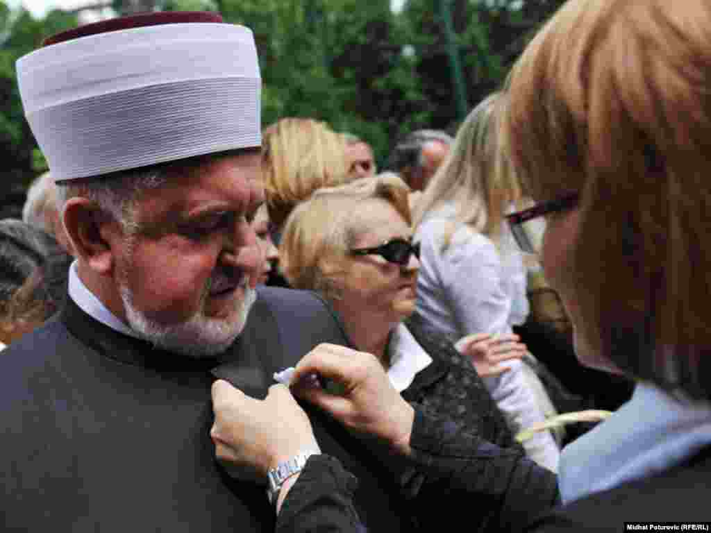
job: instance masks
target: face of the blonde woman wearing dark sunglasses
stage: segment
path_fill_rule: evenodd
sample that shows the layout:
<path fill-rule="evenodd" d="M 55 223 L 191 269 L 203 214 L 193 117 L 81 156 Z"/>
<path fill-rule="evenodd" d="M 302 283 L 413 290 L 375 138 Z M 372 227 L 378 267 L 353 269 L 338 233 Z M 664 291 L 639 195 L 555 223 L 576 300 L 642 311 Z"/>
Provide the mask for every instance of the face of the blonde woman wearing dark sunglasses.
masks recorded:
<path fill-rule="evenodd" d="M 362 204 L 358 216 L 369 229 L 356 239 L 354 249 L 378 247 L 394 237 L 412 237 L 405 219 L 385 200 Z M 338 279 L 338 287 L 343 298 L 333 306 L 346 323 L 370 321 L 390 328 L 415 311 L 419 261 L 414 254 L 405 266 L 375 254 L 348 255 L 341 267 L 345 274 Z"/>

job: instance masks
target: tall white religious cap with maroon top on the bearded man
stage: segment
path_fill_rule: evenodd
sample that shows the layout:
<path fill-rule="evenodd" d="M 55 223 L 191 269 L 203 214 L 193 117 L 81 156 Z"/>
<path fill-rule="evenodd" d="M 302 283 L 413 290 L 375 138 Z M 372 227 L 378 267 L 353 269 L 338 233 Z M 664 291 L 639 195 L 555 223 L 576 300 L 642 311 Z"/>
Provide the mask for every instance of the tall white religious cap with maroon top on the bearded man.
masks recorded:
<path fill-rule="evenodd" d="M 262 144 L 252 31 L 218 14 L 80 26 L 20 58 L 17 77 L 56 181 Z"/>

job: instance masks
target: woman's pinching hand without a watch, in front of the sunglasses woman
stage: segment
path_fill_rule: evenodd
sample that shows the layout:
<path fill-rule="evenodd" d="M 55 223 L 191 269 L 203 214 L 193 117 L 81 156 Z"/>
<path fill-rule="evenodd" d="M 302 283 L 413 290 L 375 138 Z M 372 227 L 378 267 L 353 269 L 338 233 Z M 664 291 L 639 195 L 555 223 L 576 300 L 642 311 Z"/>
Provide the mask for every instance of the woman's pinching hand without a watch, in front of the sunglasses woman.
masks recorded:
<path fill-rule="evenodd" d="M 310 385 L 314 375 L 336 382 L 340 394 Z M 348 429 L 375 436 L 403 455 L 410 453 L 415 410 L 392 387 L 375 355 L 320 344 L 296 365 L 292 383 L 294 394 L 328 411 Z"/>

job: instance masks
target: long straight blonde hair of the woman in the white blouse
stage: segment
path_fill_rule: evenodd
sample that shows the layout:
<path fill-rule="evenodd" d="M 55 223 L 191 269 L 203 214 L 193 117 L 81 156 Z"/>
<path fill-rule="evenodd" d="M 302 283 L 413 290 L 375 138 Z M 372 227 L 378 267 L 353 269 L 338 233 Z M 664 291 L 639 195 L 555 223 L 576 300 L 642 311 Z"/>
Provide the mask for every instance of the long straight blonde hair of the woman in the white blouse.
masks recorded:
<path fill-rule="evenodd" d="M 499 135 L 505 100 L 501 93 L 494 93 L 469 113 L 449 156 L 417 200 L 415 227 L 437 208 L 447 203 L 456 206 L 443 249 L 449 247 L 451 236 L 463 224 L 498 240 L 506 208 L 520 201 L 520 187 Z"/>

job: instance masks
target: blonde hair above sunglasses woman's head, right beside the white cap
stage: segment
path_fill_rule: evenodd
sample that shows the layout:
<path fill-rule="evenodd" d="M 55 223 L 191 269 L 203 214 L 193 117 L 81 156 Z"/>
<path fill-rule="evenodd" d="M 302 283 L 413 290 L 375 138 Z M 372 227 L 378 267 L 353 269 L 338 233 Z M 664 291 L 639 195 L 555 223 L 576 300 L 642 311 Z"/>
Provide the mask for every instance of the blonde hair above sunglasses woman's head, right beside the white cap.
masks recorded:
<path fill-rule="evenodd" d="M 281 119 L 264 129 L 262 147 L 264 193 L 278 227 L 314 190 L 348 181 L 346 141 L 324 122 Z"/>

